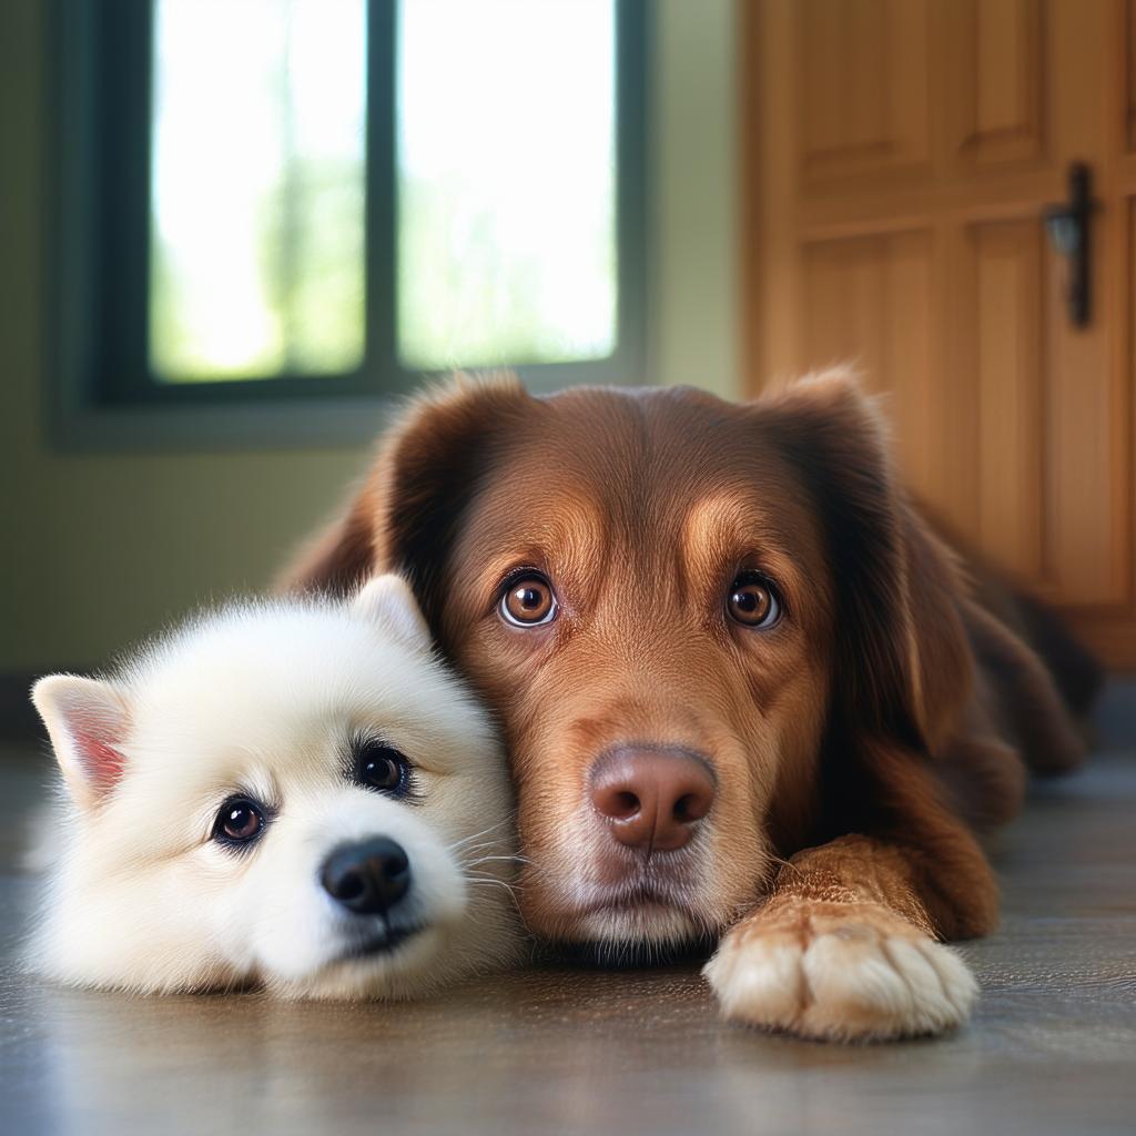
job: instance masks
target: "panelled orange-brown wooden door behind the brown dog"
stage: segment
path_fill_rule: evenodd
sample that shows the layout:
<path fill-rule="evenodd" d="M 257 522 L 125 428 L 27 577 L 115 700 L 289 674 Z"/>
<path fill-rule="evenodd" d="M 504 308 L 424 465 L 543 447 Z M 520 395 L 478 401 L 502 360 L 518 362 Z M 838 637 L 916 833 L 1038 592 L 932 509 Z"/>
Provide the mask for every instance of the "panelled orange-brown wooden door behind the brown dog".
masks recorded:
<path fill-rule="evenodd" d="M 745 360 L 853 360 L 909 482 L 1136 668 L 1136 0 L 743 0 Z M 1092 311 L 1042 216 L 1086 162 Z"/>

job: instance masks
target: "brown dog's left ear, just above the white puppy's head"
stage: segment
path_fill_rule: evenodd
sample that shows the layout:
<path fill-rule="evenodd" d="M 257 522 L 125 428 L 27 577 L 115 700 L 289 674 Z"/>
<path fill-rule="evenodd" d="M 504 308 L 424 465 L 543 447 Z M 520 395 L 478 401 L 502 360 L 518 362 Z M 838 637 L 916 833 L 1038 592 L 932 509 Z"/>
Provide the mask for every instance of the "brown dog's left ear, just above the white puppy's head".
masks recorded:
<path fill-rule="evenodd" d="M 345 595 L 375 573 L 401 571 L 432 617 L 433 585 L 458 520 L 496 458 L 498 440 L 533 404 L 510 374 L 456 375 L 419 395 L 381 438 L 346 510 L 279 586 Z"/>

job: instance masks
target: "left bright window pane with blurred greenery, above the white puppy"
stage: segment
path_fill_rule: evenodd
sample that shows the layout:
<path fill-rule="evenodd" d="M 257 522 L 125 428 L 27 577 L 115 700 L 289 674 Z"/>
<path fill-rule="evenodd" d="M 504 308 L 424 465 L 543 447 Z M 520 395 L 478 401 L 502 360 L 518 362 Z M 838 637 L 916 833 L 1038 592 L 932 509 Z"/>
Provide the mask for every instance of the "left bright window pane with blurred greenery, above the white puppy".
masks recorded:
<path fill-rule="evenodd" d="M 365 60 L 365 0 L 156 0 L 160 381 L 360 365 Z"/>

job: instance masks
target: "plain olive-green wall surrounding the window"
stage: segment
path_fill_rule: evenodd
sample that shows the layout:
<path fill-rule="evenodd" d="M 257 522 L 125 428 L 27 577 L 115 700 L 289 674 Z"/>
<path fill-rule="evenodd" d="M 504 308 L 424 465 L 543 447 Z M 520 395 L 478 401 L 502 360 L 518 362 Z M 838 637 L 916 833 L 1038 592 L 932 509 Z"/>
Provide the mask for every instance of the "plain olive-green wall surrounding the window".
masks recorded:
<path fill-rule="evenodd" d="M 66 453 L 45 441 L 45 7 L 0 3 L 0 675 L 97 665 L 189 607 L 262 586 L 367 458 Z M 654 11 L 653 374 L 729 394 L 734 0 Z"/>

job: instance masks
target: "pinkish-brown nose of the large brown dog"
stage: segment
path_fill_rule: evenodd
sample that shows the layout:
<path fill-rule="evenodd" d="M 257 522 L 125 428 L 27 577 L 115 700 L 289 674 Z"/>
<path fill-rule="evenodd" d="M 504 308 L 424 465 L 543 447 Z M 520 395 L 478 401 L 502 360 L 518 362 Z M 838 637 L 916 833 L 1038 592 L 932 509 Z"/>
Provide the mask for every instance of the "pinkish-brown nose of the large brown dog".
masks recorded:
<path fill-rule="evenodd" d="M 592 767 L 595 811 L 620 844 L 646 852 L 680 849 L 713 804 L 713 774 L 687 750 L 618 746 Z"/>

